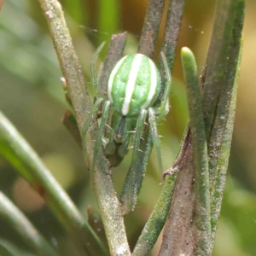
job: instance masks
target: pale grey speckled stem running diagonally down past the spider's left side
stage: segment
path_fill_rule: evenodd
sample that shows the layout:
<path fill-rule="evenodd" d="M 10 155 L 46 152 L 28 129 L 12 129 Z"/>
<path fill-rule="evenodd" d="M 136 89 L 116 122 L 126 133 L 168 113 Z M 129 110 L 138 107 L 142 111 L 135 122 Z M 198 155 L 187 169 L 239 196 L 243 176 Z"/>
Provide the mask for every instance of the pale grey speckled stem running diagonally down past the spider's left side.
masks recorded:
<path fill-rule="evenodd" d="M 91 102 L 86 91 L 78 57 L 73 49 L 72 39 L 67 29 L 61 4 L 56 0 L 38 1 L 49 24 L 49 31 L 55 44 L 63 76 L 67 82 L 67 89 L 73 103 L 79 131 L 82 134 L 84 122 L 91 110 Z M 86 144 L 83 143 L 84 160 L 87 168 L 89 168 L 93 160 L 94 140 L 96 139 L 97 129 L 96 119 L 94 119 L 90 126 L 90 132 L 86 133 Z M 99 149 L 94 177 L 93 185 L 108 237 L 110 253 L 116 255 L 121 252 L 122 255 L 131 255 L 125 234 L 124 218 L 119 207 L 119 200 L 113 189 L 108 160 L 103 154 L 102 148 Z M 102 254 L 99 253 L 98 255 Z"/>

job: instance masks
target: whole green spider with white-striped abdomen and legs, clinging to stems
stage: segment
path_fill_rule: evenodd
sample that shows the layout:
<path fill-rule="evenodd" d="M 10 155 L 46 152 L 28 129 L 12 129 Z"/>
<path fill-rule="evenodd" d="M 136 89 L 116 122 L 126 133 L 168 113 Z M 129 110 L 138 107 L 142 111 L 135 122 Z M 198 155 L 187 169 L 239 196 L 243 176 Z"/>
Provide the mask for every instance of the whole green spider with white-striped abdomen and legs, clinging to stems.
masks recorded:
<path fill-rule="evenodd" d="M 99 89 L 99 76 L 96 77 L 95 62 L 102 50 L 103 44 L 96 50 L 90 64 L 92 82 Z M 103 137 L 109 139 L 104 152 L 111 166 L 118 166 L 128 153 L 129 143 L 133 142 L 131 163 L 137 159 L 140 151 L 143 133 L 149 129 L 156 147 L 161 172 L 163 171 L 160 139 L 156 124 L 169 111 L 169 91 L 171 74 L 166 63 L 166 57 L 161 53 L 166 84 L 161 90 L 160 73 L 154 62 L 142 54 L 126 55 L 113 67 L 108 78 L 108 98 L 98 97 L 88 119 L 84 124 L 85 136 L 94 114 L 102 109 L 101 124 L 96 136 L 94 156 L 91 166 L 93 172 L 96 165 L 98 150 L 102 145 Z"/>

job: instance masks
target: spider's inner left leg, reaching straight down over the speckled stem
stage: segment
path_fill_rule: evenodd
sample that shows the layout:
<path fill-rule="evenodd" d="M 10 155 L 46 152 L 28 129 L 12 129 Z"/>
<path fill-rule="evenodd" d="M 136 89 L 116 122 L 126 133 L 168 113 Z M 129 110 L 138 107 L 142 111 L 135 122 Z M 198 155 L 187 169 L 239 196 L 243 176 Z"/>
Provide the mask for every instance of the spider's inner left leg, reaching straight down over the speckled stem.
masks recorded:
<path fill-rule="evenodd" d="M 104 102 L 104 104 L 103 104 L 102 120 L 101 120 L 101 125 L 100 125 L 99 130 L 98 130 L 97 135 L 96 135 L 96 143 L 95 143 L 95 146 L 94 146 L 94 154 L 93 154 L 93 160 L 92 160 L 92 165 L 91 165 L 91 170 L 90 170 L 90 176 L 91 177 L 93 177 L 98 151 L 99 151 L 99 148 L 102 145 L 102 137 L 104 135 L 105 125 L 108 121 L 108 114 L 109 114 L 110 104 L 111 104 L 111 102 L 109 102 L 109 101 Z"/>

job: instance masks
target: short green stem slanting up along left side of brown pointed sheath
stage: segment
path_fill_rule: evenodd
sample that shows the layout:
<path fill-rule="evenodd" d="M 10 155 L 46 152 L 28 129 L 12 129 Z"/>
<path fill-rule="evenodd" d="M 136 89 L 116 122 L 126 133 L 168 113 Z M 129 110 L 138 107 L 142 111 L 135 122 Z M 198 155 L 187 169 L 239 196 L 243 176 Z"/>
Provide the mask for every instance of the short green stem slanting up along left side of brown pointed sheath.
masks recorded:
<path fill-rule="evenodd" d="M 154 210 L 148 218 L 148 222 L 145 224 L 141 236 L 137 240 L 137 244 L 132 253 L 133 256 L 148 255 L 154 247 L 154 244 L 166 223 L 166 217 L 172 203 L 176 177 L 177 173 L 166 177 L 160 198 L 154 206 Z"/>

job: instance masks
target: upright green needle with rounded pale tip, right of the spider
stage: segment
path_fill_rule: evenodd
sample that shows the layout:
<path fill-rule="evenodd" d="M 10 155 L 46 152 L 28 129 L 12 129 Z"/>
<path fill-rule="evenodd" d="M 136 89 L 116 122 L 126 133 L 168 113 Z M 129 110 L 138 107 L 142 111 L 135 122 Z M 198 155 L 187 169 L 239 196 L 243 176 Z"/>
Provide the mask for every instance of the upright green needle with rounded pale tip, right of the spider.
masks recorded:
<path fill-rule="evenodd" d="M 195 255 L 210 255 L 210 189 L 207 137 L 202 111 L 201 88 L 195 56 L 190 49 L 181 51 L 183 74 L 187 87 L 189 125 L 195 170 L 195 225 L 198 230 Z"/>

